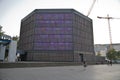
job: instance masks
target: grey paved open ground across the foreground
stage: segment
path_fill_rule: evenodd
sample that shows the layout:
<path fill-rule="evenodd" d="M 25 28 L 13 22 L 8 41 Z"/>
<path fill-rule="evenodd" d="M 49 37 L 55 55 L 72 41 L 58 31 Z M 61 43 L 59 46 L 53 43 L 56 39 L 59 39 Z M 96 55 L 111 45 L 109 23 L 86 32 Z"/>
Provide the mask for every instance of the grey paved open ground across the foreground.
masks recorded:
<path fill-rule="evenodd" d="M 120 80 L 120 64 L 37 68 L 2 68 L 0 80 Z"/>

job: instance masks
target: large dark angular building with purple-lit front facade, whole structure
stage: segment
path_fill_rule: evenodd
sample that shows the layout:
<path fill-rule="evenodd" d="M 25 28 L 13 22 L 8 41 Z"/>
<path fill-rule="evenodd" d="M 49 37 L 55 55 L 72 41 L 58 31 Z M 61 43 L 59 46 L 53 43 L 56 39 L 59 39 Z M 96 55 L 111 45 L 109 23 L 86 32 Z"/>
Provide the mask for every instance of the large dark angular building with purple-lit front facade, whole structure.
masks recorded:
<path fill-rule="evenodd" d="M 27 61 L 94 61 L 92 20 L 74 9 L 36 9 L 21 21 Z"/>

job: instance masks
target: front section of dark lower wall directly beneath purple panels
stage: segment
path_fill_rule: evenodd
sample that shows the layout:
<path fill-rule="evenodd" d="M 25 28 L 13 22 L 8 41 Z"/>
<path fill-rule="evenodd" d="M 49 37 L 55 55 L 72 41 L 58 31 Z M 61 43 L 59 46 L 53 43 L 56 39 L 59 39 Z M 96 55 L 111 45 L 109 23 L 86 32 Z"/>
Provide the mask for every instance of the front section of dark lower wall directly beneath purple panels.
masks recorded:
<path fill-rule="evenodd" d="M 29 51 L 27 61 L 43 62 L 71 62 L 73 61 L 73 51 Z"/>

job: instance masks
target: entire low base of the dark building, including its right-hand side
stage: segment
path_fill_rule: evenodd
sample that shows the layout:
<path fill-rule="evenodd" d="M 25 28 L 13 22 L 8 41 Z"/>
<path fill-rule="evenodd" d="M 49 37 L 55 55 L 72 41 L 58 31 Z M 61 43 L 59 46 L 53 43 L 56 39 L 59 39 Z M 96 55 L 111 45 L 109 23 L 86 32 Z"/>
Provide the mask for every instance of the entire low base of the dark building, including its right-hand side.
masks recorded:
<path fill-rule="evenodd" d="M 74 53 L 72 50 L 68 51 L 27 51 L 25 61 L 40 61 L 40 62 L 94 62 L 93 54 Z"/>

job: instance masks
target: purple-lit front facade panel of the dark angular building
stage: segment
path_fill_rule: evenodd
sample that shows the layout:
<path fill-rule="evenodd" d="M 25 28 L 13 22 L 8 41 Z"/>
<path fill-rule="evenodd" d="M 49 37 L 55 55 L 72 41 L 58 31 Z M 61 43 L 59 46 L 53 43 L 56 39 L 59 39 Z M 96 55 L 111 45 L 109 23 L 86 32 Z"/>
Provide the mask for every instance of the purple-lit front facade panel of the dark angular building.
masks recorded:
<path fill-rule="evenodd" d="M 34 50 L 72 50 L 72 14 L 38 13 Z"/>

